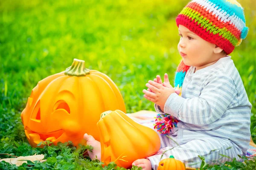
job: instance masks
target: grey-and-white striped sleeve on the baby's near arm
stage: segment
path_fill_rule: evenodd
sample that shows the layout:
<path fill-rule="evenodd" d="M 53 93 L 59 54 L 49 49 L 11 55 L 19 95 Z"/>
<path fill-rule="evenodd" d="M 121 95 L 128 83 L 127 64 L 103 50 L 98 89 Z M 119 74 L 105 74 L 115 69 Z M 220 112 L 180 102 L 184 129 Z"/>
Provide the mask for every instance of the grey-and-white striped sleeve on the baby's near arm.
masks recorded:
<path fill-rule="evenodd" d="M 229 76 L 218 75 L 210 79 L 199 97 L 184 99 L 175 93 L 171 94 L 164 106 L 164 112 L 194 125 L 209 125 L 221 118 L 238 92 Z"/>

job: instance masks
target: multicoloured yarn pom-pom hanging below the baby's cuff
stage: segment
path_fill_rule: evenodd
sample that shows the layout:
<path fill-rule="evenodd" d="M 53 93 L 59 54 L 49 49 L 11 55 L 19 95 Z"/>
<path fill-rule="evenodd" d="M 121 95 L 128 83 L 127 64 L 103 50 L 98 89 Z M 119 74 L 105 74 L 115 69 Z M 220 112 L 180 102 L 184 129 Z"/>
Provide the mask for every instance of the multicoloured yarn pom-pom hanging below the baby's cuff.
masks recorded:
<path fill-rule="evenodd" d="M 157 114 L 154 129 L 162 135 L 166 135 L 171 131 L 172 127 L 177 127 L 177 122 L 176 119 L 173 119 L 172 116 L 167 113 Z"/>

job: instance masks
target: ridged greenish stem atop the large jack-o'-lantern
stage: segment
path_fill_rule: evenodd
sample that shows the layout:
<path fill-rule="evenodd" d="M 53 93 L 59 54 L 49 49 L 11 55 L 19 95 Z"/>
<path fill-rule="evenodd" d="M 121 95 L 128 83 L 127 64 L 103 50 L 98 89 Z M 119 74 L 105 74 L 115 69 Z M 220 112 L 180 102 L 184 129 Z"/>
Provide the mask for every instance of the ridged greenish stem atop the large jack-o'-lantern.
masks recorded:
<path fill-rule="evenodd" d="M 72 65 L 69 68 L 66 68 L 64 74 L 81 77 L 90 74 L 90 70 L 84 67 L 84 60 L 74 59 Z"/>

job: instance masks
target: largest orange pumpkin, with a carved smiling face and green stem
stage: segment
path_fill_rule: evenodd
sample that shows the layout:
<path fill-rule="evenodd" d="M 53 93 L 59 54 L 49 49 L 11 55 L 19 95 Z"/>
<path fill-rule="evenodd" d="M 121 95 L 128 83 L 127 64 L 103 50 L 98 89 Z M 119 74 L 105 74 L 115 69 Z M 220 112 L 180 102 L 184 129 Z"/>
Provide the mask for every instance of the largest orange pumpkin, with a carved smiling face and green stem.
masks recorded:
<path fill-rule="evenodd" d="M 44 140 L 53 144 L 71 140 L 85 144 L 84 133 L 99 140 L 96 127 L 104 111 L 125 103 L 115 83 L 105 74 L 84 67 L 74 59 L 71 67 L 49 76 L 33 88 L 21 113 L 26 137 L 32 147 Z"/>

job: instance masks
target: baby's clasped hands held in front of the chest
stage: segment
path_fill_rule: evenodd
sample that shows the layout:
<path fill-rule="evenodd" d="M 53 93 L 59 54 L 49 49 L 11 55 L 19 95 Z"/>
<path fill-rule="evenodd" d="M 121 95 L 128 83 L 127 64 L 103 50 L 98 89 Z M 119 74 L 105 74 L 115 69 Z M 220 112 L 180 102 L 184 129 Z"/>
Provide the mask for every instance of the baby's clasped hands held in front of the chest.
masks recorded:
<path fill-rule="evenodd" d="M 146 86 L 148 87 L 148 90 L 143 90 L 144 97 L 159 105 L 160 108 L 164 108 L 168 97 L 175 93 L 175 88 L 170 85 L 167 74 L 164 76 L 163 83 L 160 76 L 157 76 L 157 79 L 154 79 L 154 81 L 149 80 Z"/>

